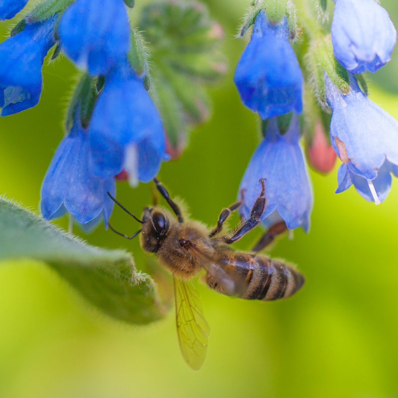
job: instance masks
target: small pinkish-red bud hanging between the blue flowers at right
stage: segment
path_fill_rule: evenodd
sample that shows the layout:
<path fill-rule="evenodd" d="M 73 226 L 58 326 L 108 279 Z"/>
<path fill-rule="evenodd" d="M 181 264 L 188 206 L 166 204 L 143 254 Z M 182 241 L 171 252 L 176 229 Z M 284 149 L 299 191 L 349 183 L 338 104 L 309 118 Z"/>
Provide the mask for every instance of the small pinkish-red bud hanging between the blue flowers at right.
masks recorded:
<path fill-rule="evenodd" d="M 311 167 L 320 173 L 329 173 L 336 161 L 336 152 L 327 141 L 320 121 L 315 123 L 312 143 L 307 149 L 308 161 Z"/>

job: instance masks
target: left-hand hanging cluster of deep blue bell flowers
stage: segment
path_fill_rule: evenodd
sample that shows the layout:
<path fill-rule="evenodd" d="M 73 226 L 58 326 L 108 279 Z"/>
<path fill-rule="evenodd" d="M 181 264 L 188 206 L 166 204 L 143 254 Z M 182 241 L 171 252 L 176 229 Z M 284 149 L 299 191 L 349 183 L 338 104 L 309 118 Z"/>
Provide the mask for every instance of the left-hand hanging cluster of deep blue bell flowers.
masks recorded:
<path fill-rule="evenodd" d="M 25 3 L 2 2 L 0 15 L 10 18 Z M 126 4 L 70 3 L 50 16 L 27 14 L 0 44 L 1 115 L 39 102 L 41 67 L 51 47 L 76 63 L 82 79 L 68 111 L 67 135 L 44 177 L 41 211 L 48 219 L 69 211 L 86 226 L 103 218 L 106 226 L 113 207 L 107 192 L 115 195 L 115 177 L 125 170 L 132 184 L 153 179 L 167 159 L 165 134 L 144 73 L 129 60 L 134 31 Z"/>

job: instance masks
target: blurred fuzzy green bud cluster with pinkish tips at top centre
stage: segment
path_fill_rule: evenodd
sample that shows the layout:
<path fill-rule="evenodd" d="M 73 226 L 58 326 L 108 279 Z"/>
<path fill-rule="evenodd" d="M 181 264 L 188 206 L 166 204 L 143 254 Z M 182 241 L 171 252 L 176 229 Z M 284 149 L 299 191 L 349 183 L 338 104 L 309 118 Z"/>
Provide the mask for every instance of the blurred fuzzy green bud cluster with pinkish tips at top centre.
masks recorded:
<path fill-rule="evenodd" d="M 147 5 L 138 26 L 152 55 L 152 96 L 161 113 L 169 142 L 181 148 L 187 130 L 210 113 L 204 85 L 225 72 L 217 51 L 223 35 L 196 1 L 159 1 Z"/>

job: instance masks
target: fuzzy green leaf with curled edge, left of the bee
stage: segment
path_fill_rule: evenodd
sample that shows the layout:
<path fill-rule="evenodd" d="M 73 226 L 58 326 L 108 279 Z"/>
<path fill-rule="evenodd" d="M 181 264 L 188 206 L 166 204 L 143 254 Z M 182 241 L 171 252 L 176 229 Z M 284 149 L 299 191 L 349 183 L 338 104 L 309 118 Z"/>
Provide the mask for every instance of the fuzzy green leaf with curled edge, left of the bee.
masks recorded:
<path fill-rule="evenodd" d="M 0 199 L 0 264 L 21 258 L 43 261 L 116 319 L 145 324 L 160 319 L 167 309 L 153 280 L 135 270 L 129 253 L 90 246 Z"/>

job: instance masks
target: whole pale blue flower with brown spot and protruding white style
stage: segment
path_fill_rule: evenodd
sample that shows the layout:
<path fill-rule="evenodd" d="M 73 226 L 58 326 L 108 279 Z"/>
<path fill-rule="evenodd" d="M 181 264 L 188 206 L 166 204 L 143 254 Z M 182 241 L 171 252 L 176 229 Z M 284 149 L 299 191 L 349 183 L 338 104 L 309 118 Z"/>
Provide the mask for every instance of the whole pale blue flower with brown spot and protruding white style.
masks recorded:
<path fill-rule="evenodd" d="M 343 162 L 336 193 L 354 184 L 365 199 L 378 203 L 390 191 L 390 173 L 397 175 L 398 121 L 365 96 L 354 75 L 349 79 L 351 90 L 344 95 L 325 75 L 332 108 L 330 139 Z"/>

